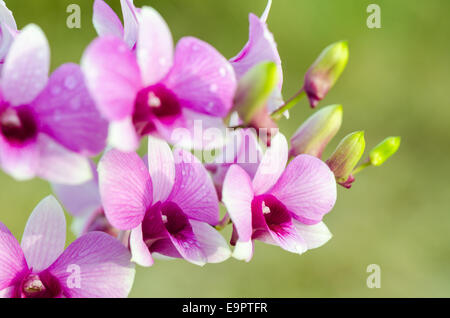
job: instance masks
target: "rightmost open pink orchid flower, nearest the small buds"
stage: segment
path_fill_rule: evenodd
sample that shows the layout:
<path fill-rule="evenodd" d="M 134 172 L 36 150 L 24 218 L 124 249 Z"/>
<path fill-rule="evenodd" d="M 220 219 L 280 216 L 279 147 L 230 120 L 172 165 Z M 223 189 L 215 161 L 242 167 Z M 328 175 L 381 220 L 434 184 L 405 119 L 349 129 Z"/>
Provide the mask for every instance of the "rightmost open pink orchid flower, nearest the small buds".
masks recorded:
<path fill-rule="evenodd" d="M 238 165 L 228 170 L 222 201 L 233 221 L 233 256 L 250 261 L 253 240 L 302 254 L 330 238 L 321 222 L 336 202 L 336 181 L 328 166 L 300 155 L 286 167 L 288 144 L 278 133 L 253 180 Z"/>

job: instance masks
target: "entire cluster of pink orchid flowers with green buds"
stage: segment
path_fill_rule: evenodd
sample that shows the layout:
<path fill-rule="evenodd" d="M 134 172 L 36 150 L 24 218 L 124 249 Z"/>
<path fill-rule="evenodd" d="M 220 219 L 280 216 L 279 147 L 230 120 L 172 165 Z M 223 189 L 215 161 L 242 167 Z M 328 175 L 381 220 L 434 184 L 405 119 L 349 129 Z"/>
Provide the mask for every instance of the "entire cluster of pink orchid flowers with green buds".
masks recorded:
<path fill-rule="evenodd" d="M 0 295 L 126 297 L 134 263 L 250 261 L 255 240 L 297 254 L 330 240 L 323 218 L 337 185 L 350 188 L 357 173 L 383 164 L 400 138 L 358 166 L 362 131 L 322 160 L 341 105 L 314 113 L 290 145 L 278 122 L 303 96 L 313 108 L 325 98 L 347 64 L 347 43 L 328 46 L 285 102 L 271 1 L 261 17 L 250 14 L 249 40 L 231 59 L 194 37 L 174 45 L 156 10 L 120 3 L 123 24 L 95 1 L 98 37 L 80 65 L 49 77 L 44 33 L 34 24 L 18 30 L 0 0 L 0 166 L 18 181 L 49 181 L 79 237 L 64 249 L 53 196 L 33 211 L 20 245 L 0 223 Z M 98 164 L 90 159 L 101 153 Z M 220 233 L 227 226 L 232 249 Z"/>

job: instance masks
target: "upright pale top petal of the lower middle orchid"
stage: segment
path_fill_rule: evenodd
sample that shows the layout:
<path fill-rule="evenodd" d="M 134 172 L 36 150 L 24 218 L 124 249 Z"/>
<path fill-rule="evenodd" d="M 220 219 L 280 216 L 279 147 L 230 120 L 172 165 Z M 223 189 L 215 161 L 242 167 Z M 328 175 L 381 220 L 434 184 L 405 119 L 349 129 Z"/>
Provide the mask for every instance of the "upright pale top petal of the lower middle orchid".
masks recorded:
<path fill-rule="evenodd" d="M 167 142 L 149 137 L 148 168 L 153 184 L 153 202 L 164 202 L 175 182 L 175 162 Z"/>

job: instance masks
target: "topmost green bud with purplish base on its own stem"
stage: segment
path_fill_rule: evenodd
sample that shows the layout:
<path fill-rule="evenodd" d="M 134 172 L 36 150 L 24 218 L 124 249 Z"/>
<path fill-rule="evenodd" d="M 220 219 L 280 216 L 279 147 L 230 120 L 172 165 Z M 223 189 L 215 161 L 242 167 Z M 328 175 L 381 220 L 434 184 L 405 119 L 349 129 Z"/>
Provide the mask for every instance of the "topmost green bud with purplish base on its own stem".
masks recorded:
<path fill-rule="evenodd" d="M 311 107 L 317 106 L 338 80 L 348 62 L 348 44 L 336 42 L 325 48 L 305 75 L 303 89 Z"/>

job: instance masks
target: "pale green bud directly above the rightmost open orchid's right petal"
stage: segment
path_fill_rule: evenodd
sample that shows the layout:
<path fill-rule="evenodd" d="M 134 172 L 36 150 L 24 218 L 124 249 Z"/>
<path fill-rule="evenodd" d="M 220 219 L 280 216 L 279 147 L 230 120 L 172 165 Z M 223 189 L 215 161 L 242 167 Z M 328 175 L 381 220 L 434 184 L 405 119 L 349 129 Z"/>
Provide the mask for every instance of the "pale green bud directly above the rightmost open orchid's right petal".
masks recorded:
<path fill-rule="evenodd" d="M 318 158 L 342 124 L 342 105 L 327 106 L 308 118 L 291 138 L 290 156 L 308 154 Z"/>

